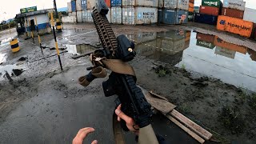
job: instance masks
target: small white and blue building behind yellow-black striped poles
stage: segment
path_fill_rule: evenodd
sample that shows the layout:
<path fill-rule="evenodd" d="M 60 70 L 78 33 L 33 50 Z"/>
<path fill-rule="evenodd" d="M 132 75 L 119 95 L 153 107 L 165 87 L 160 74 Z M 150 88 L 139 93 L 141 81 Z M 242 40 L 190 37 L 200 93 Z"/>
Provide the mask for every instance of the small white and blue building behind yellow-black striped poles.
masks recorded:
<path fill-rule="evenodd" d="M 30 35 L 30 31 L 36 31 L 36 20 L 38 24 L 39 34 L 47 34 L 51 32 L 49 13 L 54 12 L 54 9 L 36 10 L 16 14 L 15 21 L 17 23 L 18 35 Z M 36 20 L 35 20 L 36 19 Z M 37 34 L 37 33 L 34 33 Z"/>

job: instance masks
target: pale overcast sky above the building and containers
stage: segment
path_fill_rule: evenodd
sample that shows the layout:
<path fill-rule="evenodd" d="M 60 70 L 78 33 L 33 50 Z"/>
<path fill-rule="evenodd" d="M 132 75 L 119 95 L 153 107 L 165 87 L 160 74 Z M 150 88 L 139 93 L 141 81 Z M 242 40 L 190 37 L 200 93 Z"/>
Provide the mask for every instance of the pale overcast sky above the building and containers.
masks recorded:
<path fill-rule="evenodd" d="M 5 0 L 0 5 L 0 22 L 2 20 L 7 20 L 9 18 L 14 18 L 16 14 L 20 13 L 21 8 L 38 6 L 38 10 L 49 9 L 54 7 L 53 0 Z M 244 0 L 246 2 L 246 7 L 256 9 L 256 0 Z M 56 0 L 57 7 L 66 7 L 67 2 L 70 0 Z M 202 0 L 194 0 L 195 6 L 200 6 Z M 223 2 L 223 0 L 222 0 Z M 254 15 L 256 16 L 256 14 Z"/>

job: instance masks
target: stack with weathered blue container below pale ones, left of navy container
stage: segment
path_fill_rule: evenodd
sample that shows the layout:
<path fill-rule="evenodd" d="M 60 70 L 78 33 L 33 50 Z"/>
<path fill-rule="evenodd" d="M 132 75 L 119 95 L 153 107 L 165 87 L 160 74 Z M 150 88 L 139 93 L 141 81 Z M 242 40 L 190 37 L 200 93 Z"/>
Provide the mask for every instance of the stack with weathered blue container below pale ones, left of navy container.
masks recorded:
<path fill-rule="evenodd" d="M 164 0 L 162 10 L 162 23 L 182 24 L 188 22 L 189 0 Z"/>

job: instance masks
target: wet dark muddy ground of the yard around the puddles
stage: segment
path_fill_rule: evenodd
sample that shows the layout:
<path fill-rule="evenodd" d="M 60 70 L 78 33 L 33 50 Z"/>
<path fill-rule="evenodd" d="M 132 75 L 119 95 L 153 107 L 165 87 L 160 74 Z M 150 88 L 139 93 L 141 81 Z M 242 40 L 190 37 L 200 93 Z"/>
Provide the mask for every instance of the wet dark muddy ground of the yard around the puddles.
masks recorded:
<path fill-rule="evenodd" d="M 199 27 L 215 32 L 212 26 L 200 25 Z M 196 28 L 194 28 L 194 24 L 189 24 L 187 26 L 113 26 L 113 29 L 118 35 L 137 34 L 142 31 L 159 32 L 168 29 L 194 30 Z M 12 37 L 13 34 L 10 36 Z M 7 37 L 6 35 L 1 36 L 0 40 Z M 254 43 L 234 34 L 228 34 L 226 37 L 231 37 L 232 41 L 243 39 Z M 35 42 L 37 42 L 37 38 L 35 38 Z M 54 47 L 53 35 L 42 36 L 42 42 L 46 47 L 43 50 L 43 55 L 37 43 L 33 44 L 31 39 L 25 41 L 24 38 L 20 38 L 19 44 L 22 50 L 17 54 L 12 54 L 9 46 L 2 46 L 0 49 L 0 52 L 6 55 L 6 62 L 2 62 L 0 66 L 17 63 L 25 66 L 24 72 L 20 76 L 12 77 L 13 81 L 6 77 L 5 80 L 0 81 L 0 128 L 2 130 L 0 135 L 2 135 L 2 142 L 18 143 L 18 140 L 36 142 L 35 138 L 42 138 L 41 142 L 54 142 L 54 133 L 60 133 L 57 135 L 58 139 L 62 139 L 62 142 L 66 143 L 70 142 L 79 127 L 85 125 L 96 126 L 98 129 L 106 126 L 106 129 L 100 130 L 94 136 L 106 133 L 110 126 L 101 124 L 105 122 L 104 118 L 97 118 L 101 120 L 96 123 L 91 118 L 99 117 L 102 113 L 111 115 L 110 110 L 114 105 L 112 103 L 114 98 L 102 97 L 101 80 L 96 80 L 86 89 L 79 86 L 77 82 L 79 76 L 87 73 L 86 66 L 90 66 L 88 57 L 74 60 L 71 58 L 71 54 L 62 50 L 61 58 L 64 71 L 61 71 L 58 59 L 54 55 L 56 54 L 55 50 L 50 50 L 51 47 Z M 60 47 L 65 47 L 66 44 L 97 46 L 98 35 L 93 24 L 64 25 L 62 34 L 58 34 L 58 42 Z M 26 60 L 18 62 L 18 59 L 22 57 Z M 210 130 L 219 142 L 256 142 L 256 94 L 253 92 L 223 83 L 216 78 L 208 78 L 193 71 L 186 71 L 186 67 L 179 69 L 142 56 L 137 56 L 130 64 L 134 66 L 139 86 L 146 90 L 154 90 L 168 98 L 170 102 L 178 106 L 178 110 L 182 114 Z M 85 95 L 90 97 L 86 98 Z M 99 98 L 98 95 L 101 97 Z M 96 114 L 89 110 L 91 106 L 94 106 L 90 104 L 90 101 L 99 106 L 100 110 Z M 81 108 L 87 111 L 82 113 L 79 110 Z M 70 123 L 76 123 L 75 119 L 85 118 L 85 116 L 79 115 L 80 112 L 93 115 L 87 118 L 88 122 L 78 122 L 79 124 L 75 126 L 68 126 Z M 47 117 L 42 116 L 44 114 Z M 70 118 L 73 115 L 74 117 Z M 110 116 L 104 117 L 106 120 L 110 120 Z M 62 122 L 63 118 L 67 121 Z M 42 121 L 46 121 L 46 123 Z M 26 127 L 27 122 L 32 122 L 29 128 Z M 54 125 L 50 122 L 60 122 L 62 125 Z M 22 138 L 24 136 L 22 134 L 15 136 L 15 132 L 18 132 L 18 127 L 15 128 L 15 126 L 19 126 L 19 123 L 22 124 L 23 130 L 27 131 L 26 135 L 31 134 L 30 136 L 25 138 Z M 107 123 L 110 122 L 107 121 Z M 65 129 L 58 126 L 63 125 L 67 125 L 71 129 L 70 132 L 62 134 Z M 10 129 L 8 126 L 13 127 Z M 38 126 L 36 133 L 31 131 L 33 126 Z M 40 130 L 46 129 L 50 129 L 49 134 L 42 135 L 42 137 L 36 136 L 36 134 L 41 134 Z M 35 138 L 32 138 L 33 136 Z M 65 136 L 66 138 L 64 138 Z M 101 140 L 103 143 L 112 143 L 111 137 L 111 134 L 106 135 Z M 30 138 L 32 140 L 28 141 L 27 139 Z M 190 140 L 186 143 L 194 143 L 194 141 Z"/>

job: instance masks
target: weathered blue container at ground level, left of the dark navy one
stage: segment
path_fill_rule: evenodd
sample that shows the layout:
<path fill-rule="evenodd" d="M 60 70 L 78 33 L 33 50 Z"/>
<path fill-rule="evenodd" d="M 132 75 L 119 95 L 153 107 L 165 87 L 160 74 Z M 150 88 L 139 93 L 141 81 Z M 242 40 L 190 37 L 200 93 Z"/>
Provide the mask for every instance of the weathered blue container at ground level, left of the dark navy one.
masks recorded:
<path fill-rule="evenodd" d="M 186 10 L 163 10 L 163 23 L 178 25 L 188 22 L 188 11 Z"/>

